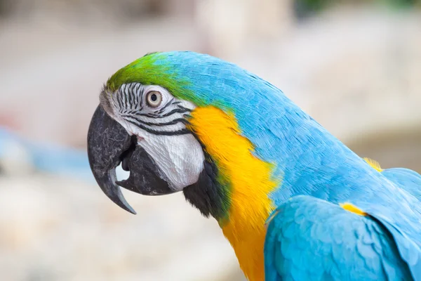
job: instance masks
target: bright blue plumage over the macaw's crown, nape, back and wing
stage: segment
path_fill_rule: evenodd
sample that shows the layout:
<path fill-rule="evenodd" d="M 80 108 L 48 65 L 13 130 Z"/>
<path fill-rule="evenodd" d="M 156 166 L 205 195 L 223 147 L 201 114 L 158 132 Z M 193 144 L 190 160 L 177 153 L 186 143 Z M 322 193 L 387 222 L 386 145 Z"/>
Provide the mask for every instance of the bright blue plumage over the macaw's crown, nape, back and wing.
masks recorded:
<path fill-rule="evenodd" d="M 267 280 L 421 281 L 420 175 L 376 171 L 279 89 L 236 65 L 189 52 L 168 53 L 166 65 L 203 104 L 233 112 L 255 156 L 276 166 Z"/>

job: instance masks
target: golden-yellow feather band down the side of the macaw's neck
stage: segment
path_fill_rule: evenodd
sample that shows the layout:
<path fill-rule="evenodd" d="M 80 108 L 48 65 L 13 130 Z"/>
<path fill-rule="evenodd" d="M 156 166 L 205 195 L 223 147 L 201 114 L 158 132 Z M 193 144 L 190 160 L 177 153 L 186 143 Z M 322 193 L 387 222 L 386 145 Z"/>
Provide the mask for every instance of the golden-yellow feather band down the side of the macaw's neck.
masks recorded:
<path fill-rule="evenodd" d="M 241 136 L 233 115 L 216 107 L 197 107 L 190 127 L 229 182 L 230 206 L 222 232 L 234 248 L 249 280 L 265 280 L 265 221 L 273 210 L 269 194 L 278 183 L 273 166 L 253 155 L 253 144 Z"/>

